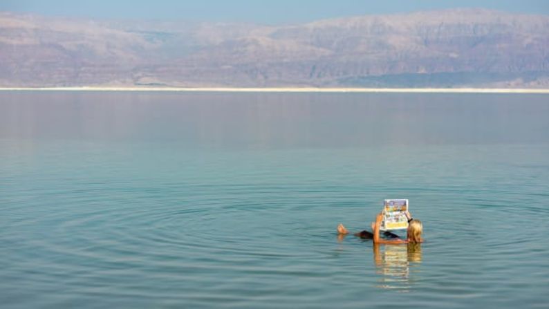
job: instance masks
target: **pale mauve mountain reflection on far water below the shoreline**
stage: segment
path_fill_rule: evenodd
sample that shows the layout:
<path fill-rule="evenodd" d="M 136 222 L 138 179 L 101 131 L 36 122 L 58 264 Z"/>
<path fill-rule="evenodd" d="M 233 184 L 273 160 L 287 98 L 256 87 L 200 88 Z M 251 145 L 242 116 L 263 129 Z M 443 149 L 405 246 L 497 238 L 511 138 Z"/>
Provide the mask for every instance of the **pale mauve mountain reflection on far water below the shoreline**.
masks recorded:
<path fill-rule="evenodd" d="M 192 149 L 522 144 L 549 142 L 548 113 L 539 95 L 0 93 L 0 138 Z"/>

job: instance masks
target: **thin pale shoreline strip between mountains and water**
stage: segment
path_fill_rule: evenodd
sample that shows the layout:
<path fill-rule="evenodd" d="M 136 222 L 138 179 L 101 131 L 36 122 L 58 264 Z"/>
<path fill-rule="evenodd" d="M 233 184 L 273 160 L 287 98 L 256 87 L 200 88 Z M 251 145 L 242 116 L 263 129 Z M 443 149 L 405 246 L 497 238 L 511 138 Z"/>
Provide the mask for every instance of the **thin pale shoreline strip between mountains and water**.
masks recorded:
<path fill-rule="evenodd" d="M 0 87 L 0 91 L 151 91 L 236 93 L 541 93 L 549 88 L 233 88 L 233 87 Z"/>

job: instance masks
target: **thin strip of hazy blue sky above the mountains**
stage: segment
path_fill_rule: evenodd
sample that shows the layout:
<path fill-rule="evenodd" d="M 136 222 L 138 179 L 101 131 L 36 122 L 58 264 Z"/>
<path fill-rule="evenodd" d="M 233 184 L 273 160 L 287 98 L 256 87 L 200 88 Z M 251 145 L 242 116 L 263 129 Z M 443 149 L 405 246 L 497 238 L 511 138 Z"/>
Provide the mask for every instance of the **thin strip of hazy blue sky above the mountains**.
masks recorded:
<path fill-rule="evenodd" d="M 456 7 L 549 14 L 549 0 L 0 0 L 0 10 L 41 15 L 259 24 Z"/>

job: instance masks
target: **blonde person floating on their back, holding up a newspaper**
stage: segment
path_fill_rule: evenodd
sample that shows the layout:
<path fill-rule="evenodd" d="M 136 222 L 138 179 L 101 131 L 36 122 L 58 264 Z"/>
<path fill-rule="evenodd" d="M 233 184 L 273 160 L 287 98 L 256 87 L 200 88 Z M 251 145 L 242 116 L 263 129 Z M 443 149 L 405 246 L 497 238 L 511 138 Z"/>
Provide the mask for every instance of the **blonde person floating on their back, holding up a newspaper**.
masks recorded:
<path fill-rule="evenodd" d="M 408 218 L 408 230 L 406 239 L 396 239 L 398 235 L 391 232 L 384 232 L 385 236 L 394 239 L 384 239 L 380 238 L 380 226 L 381 221 L 383 220 L 383 214 L 380 212 L 377 217 L 375 217 L 375 222 L 372 223 L 373 233 L 370 233 L 366 230 L 362 232 L 355 233 L 355 236 L 360 238 L 372 238 L 374 243 L 382 244 L 399 244 L 399 243 L 422 243 L 423 238 L 421 238 L 421 233 L 423 232 L 423 225 L 421 221 L 412 218 L 409 212 L 405 212 L 406 217 Z M 341 223 L 337 225 L 337 233 L 339 236 L 345 236 L 348 234 L 348 230 Z"/>

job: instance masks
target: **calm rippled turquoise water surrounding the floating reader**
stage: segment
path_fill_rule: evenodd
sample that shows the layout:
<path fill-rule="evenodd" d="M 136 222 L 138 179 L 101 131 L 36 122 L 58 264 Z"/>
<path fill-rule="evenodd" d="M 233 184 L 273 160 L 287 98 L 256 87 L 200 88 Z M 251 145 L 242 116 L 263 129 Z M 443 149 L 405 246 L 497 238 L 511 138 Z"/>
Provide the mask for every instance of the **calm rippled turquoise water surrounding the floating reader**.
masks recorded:
<path fill-rule="evenodd" d="M 548 200 L 544 95 L 0 93 L 3 308 L 547 308 Z"/>

